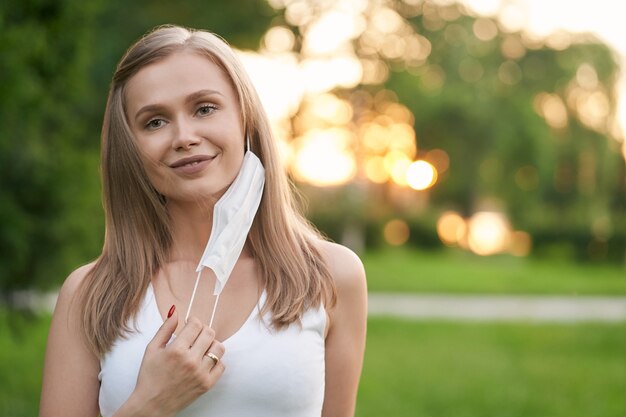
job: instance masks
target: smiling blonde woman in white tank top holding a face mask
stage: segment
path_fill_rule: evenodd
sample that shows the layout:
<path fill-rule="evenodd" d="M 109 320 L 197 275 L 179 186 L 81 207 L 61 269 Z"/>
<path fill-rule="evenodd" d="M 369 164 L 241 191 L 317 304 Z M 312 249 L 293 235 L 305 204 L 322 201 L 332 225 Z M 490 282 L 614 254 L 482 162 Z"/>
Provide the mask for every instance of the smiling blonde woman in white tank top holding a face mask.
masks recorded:
<path fill-rule="evenodd" d="M 59 294 L 40 416 L 354 414 L 362 264 L 294 208 L 222 40 L 167 26 L 128 50 L 101 165 L 104 248 Z"/>

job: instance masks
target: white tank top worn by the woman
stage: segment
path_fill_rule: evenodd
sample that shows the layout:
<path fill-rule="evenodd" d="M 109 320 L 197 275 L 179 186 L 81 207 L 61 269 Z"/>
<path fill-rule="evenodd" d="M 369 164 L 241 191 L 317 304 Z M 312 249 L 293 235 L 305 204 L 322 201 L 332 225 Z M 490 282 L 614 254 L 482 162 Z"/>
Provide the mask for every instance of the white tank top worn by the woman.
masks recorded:
<path fill-rule="evenodd" d="M 226 370 L 211 390 L 182 410 L 181 417 L 319 417 L 324 401 L 326 312 L 311 309 L 295 323 L 276 331 L 257 307 L 243 326 L 223 341 Z M 135 388 L 146 346 L 163 319 L 152 285 L 137 313 L 136 329 L 119 338 L 100 361 L 100 413 L 109 417 Z M 133 328 L 131 323 L 131 328 Z"/>

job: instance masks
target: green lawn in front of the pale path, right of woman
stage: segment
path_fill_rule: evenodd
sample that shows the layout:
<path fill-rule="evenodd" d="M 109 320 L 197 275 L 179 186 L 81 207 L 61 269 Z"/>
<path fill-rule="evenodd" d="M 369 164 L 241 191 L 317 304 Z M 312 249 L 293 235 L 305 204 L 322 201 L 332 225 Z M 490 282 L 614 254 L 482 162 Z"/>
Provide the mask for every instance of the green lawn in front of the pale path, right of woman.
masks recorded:
<path fill-rule="evenodd" d="M 369 321 L 357 417 L 623 417 L 626 323 Z"/>

